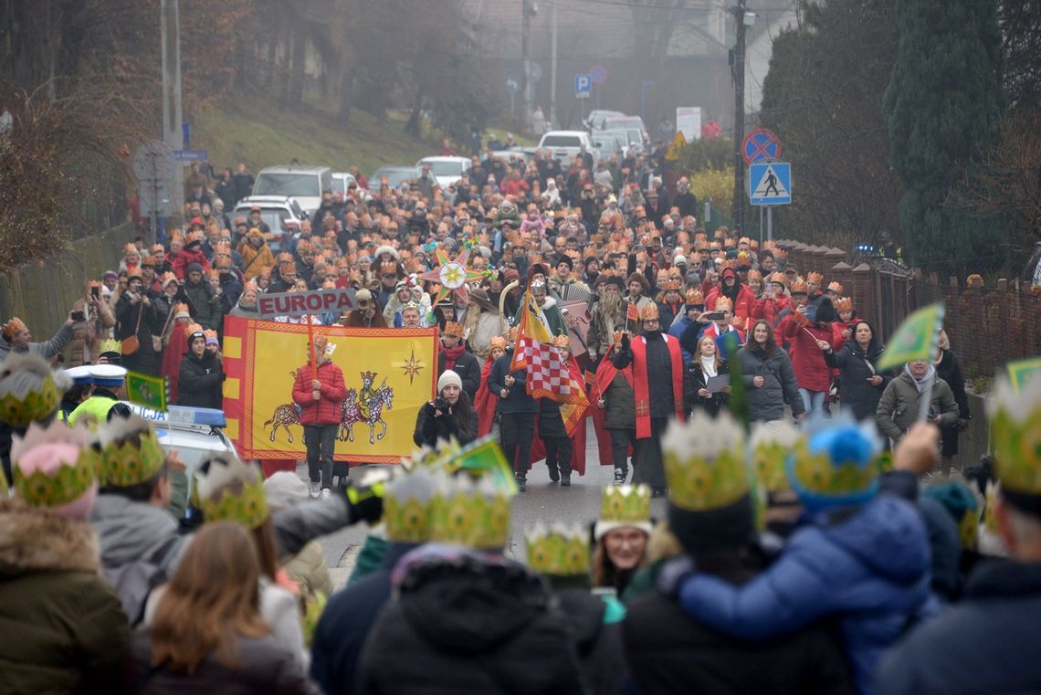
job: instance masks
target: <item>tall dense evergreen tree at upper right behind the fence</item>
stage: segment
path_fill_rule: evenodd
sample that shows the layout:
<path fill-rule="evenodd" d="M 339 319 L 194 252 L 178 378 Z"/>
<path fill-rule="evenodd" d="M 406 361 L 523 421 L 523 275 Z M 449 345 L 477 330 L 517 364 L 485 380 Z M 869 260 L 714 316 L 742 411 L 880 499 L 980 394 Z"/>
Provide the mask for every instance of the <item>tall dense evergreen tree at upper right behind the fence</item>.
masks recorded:
<path fill-rule="evenodd" d="M 905 185 L 899 215 L 912 264 L 955 274 L 1002 260 L 999 221 L 949 201 L 1004 108 L 996 0 L 897 0 L 899 48 L 883 112 Z"/>

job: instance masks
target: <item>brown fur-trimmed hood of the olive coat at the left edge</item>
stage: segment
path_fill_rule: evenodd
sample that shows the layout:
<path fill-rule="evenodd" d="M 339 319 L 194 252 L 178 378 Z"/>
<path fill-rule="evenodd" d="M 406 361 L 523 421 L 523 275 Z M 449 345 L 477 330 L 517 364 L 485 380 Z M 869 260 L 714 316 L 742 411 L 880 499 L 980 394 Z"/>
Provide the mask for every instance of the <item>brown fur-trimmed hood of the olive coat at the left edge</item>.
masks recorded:
<path fill-rule="evenodd" d="M 91 524 L 19 499 L 0 499 L 0 581 L 46 570 L 100 573 L 101 552 Z"/>

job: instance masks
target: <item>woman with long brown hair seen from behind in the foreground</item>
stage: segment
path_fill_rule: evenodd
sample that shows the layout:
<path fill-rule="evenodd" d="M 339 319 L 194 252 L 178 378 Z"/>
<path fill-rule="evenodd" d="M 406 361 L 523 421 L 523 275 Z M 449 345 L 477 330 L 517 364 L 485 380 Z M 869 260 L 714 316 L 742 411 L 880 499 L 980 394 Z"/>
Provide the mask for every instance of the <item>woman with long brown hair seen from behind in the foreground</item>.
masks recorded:
<path fill-rule="evenodd" d="M 134 637 L 137 691 L 313 693 L 260 615 L 260 560 L 237 523 L 204 525 Z"/>

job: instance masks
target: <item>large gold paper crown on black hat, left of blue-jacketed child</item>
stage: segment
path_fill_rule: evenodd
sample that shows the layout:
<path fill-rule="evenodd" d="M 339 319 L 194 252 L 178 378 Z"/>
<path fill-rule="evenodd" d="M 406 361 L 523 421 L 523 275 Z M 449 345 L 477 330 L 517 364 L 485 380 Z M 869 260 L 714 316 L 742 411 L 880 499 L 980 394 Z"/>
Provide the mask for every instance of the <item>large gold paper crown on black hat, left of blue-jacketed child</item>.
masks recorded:
<path fill-rule="evenodd" d="M 730 415 L 695 410 L 686 423 L 672 420 L 662 438 L 668 500 L 688 512 L 729 507 L 747 494 L 744 431 Z"/>

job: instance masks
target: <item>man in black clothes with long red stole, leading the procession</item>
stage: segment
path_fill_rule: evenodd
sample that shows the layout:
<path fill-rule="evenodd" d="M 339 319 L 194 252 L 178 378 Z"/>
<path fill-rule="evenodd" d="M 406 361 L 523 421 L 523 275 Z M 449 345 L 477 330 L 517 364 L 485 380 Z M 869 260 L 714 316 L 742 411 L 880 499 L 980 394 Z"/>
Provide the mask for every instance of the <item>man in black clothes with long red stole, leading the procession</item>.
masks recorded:
<path fill-rule="evenodd" d="M 640 311 L 643 333 L 621 336 L 621 349 L 612 356 L 616 369 L 633 366 L 636 400 L 636 445 L 633 484 L 645 483 L 652 494 L 665 494 L 661 437 L 670 417 L 683 420 L 683 356 L 680 341 L 661 332 L 658 305 Z"/>

